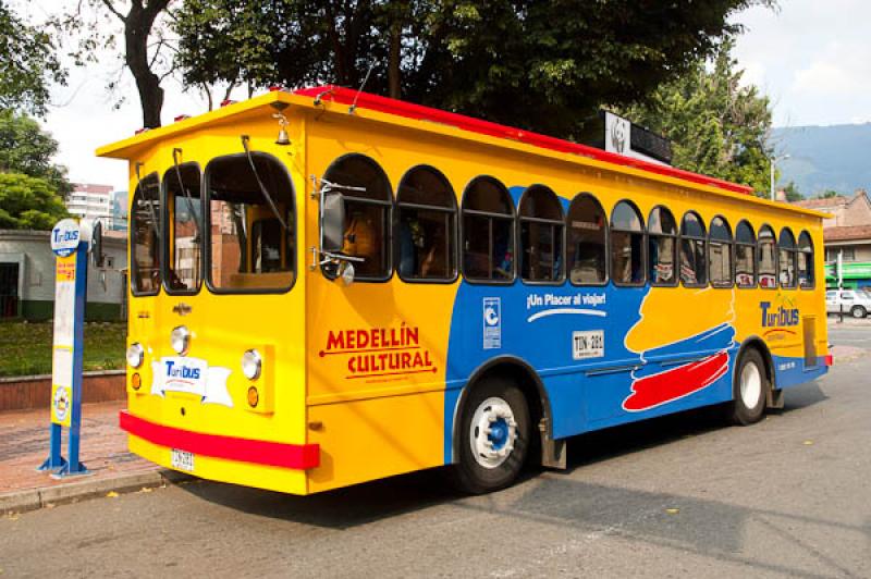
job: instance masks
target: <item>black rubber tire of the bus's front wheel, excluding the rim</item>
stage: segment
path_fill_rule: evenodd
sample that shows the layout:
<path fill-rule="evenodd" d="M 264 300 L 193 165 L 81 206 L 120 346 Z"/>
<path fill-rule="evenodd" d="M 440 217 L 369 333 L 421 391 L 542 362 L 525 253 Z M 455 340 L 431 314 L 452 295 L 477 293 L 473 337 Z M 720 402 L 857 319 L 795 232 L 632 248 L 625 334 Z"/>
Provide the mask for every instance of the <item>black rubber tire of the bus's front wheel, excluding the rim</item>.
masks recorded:
<path fill-rule="evenodd" d="M 471 389 L 463 404 L 459 417 L 458 461 L 453 467 L 453 481 L 464 492 L 483 494 L 511 485 L 520 473 L 530 446 L 529 406 L 523 392 L 503 379 L 484 378 Z M 504 402 L 510 407 L 516 423 L 516 427 L 513 427 L 515 432 L 513 448 L 495 466 L 493 463 L 499 458 L 488 457 L 483 454 L 476 456 L 471 431 L 473 420 L 479 409 L 482 411 L 482 415 L 479 416 L 489 416 L 486 408 L 493 408 L 493 405 L 484 405 L 484 403 L 491 399 Z M 476 429 L 476 432 L 482 435 L 479 429 Z"/>

